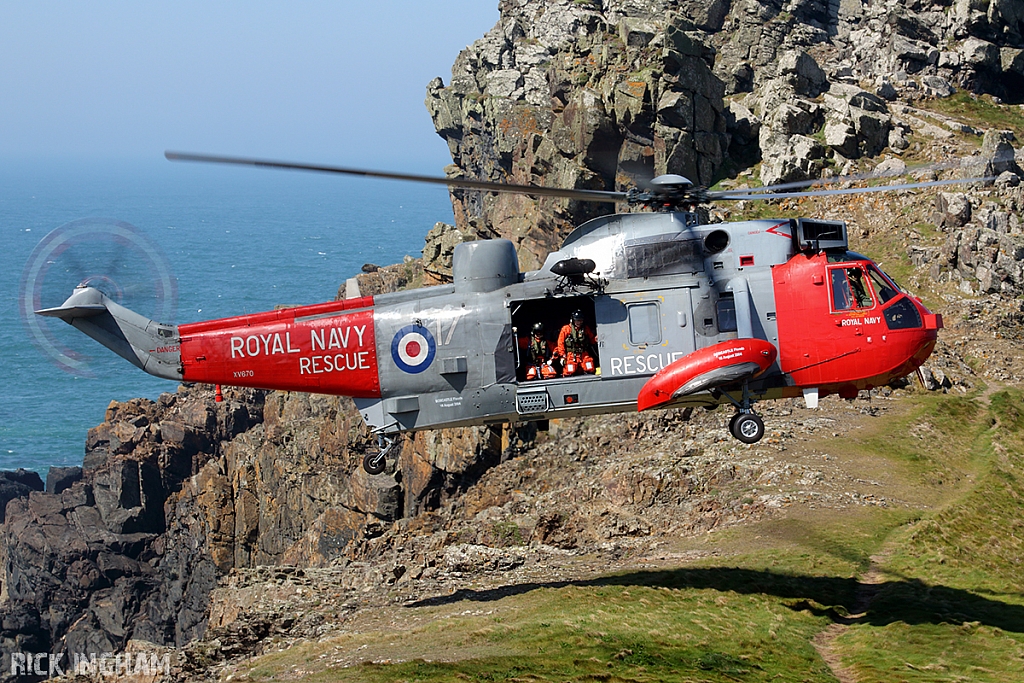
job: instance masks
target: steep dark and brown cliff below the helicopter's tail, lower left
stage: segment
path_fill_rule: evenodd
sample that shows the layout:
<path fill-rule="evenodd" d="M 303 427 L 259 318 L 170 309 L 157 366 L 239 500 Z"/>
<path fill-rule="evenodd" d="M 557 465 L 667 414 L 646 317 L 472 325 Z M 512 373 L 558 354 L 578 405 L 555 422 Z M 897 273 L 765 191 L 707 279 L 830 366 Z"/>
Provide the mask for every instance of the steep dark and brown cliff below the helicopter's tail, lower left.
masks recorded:
<path fill-rule="evenodd" d="M 217 403 L 211 387 L 182 387 L 112 403 L 73 482 L 27 486 L 8 503 L 0 648 L 184 645 L 205 632 L 219 575 L 358 557 L 500 457 L 500 435 L 486 429 L 425 434 L 406 443 L 393 472 L 371 477 L 360 466 L 369 434 L 348 399 L 224 395 Z"/>

